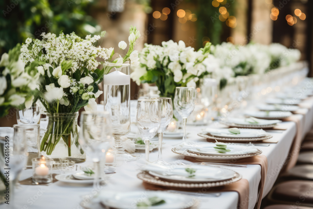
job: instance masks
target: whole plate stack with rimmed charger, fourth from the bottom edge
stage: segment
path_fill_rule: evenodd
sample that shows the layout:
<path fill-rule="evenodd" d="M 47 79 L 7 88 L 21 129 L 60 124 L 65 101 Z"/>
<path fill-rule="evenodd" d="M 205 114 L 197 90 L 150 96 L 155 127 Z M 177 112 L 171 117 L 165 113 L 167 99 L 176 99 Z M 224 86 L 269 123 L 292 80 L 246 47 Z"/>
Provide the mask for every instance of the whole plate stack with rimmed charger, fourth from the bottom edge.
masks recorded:
<path fill-rule="evenodd" d="M 240 133 L 234 134 L 228 131 L 228 128 L 207 128 L 204 133 L 199 133 L 202 136 L 211 140 L 223 142 L 244 141 L 254 142 L 272 138 L 273 136 L 263 129 L 239 128 Z"/>

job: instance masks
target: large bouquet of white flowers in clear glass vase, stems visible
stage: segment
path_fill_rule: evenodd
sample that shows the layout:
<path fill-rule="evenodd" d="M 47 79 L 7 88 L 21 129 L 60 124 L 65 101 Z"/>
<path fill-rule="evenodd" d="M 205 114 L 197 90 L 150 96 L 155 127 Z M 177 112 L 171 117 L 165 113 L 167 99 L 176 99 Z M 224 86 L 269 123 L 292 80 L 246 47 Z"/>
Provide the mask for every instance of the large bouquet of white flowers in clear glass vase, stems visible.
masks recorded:
<path fill-rule="evenodd" d="M 105 31 L 101 36 L 104 34 Z M 74 32 L 66 35 L 61 32 L 59 36 L 43 33 L 41 36 L 42 40 L 26 39 L 21 48 L 21 58 L 26 65 L 31 65 L 36 59 L 44 63 L 37 67 L 43 81 L 41 91 L 34 99 L 41 102 L 49 117 L 40 151 L 55 160 L 70 157 L 82 162 L 85 154 L 78 142 L 78 110 L 81 107 L 87 111 L 96 110 L 95 99 L 103 93 L 98 84 L 105 73 L 104 69 L 97 68 L 101 64 L 97 59 L 111 61 L 114 49 L 96 46 L 100 35 L 87 35 L 85 39 Z M 112 62 L 138 61 L 136 52 L 133 53 L 136 36 L 139 38 L 139 31 L 131 27 L 128 53 Z M 124 49 L 126 45 L 125 42 L 119 44 Z"/>

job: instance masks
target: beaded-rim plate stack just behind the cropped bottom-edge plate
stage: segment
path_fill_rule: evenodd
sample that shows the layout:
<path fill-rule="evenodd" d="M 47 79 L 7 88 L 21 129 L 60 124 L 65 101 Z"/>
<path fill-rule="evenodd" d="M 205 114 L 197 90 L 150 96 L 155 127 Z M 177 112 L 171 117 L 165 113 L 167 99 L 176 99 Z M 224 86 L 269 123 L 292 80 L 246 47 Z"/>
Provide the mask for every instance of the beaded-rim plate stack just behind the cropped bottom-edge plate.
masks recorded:
<path fill-rule="evenodd" d="M 202 188 L 228 185 L 241 175 L 226 168 L 206 165 L 146 165 L 137 177 L 147 183 L 177 188 Z"/>

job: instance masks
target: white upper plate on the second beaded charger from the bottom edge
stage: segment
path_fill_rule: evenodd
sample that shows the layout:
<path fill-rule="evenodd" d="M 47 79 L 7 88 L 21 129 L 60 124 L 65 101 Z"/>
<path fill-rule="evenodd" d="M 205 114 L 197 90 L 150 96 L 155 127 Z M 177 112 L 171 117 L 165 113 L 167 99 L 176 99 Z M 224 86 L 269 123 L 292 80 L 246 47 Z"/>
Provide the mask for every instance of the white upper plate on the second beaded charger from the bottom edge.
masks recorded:
<path fill-rule="evenodd" d="M 196 172 L 192 175 L 195 175 L 192 178 L 189 178 L 185 175 L 164 175 L 162 172 L 157 171 L 148 171 L 150 175 L 159 177 L 161 179 L 165 179 L 172 182 L 190 182 L 190 183 L 206 183 L 206 182 L 213 182 L 213 181 L 221 181 L 221 180 L 228 180 L 235 177 L 237 174 L 233 170 L 213 167 L 213 166 L 203 166 L 203 165 L 191 165 L 189 166 L 192 169 L 196 169 Z M 181 171 L 182 174 L 185 172 L 187 168 L 186 165 L 177 165 L 174 170 Z M 173 170 L 173 171 L 174 171 Z M 205 172 L 207 174 L 214 174 L 214 178 L 203 178 L 202 176 L 197 177 L 197 172 Z"/>

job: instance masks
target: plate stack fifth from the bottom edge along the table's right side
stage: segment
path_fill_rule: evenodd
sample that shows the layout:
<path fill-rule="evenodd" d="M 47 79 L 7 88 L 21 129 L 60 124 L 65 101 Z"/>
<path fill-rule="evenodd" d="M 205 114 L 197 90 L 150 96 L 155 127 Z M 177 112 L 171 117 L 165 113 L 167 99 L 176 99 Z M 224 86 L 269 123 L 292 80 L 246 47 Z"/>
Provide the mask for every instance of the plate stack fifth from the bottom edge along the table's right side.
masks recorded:
<path fill-rule="evenodd" d="M 272 128 L 281 123 L 281 120 L 264 120 L 257 118 L 226 118 L 225 120 L 219 121 L 222 124 L 225 124 L 230 127 L 237 128 Z"/>

